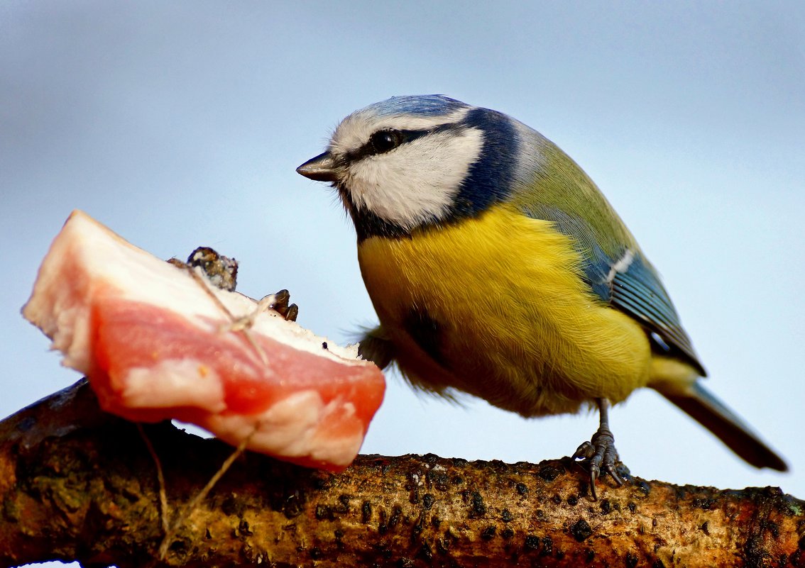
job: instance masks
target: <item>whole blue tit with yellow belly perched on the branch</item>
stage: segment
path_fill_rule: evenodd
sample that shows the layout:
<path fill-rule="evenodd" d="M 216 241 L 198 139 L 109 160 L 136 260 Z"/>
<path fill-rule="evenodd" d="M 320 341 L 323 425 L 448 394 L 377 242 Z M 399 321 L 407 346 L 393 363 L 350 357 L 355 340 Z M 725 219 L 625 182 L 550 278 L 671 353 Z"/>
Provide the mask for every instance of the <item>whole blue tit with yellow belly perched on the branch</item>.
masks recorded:
<path fill-rule="evenodd" d="M 380 325 L 361 352 L 411 385 L 524 417 L 597 406 L 574 458 L 620 484 L 609 407 L 657 390 L 756 467 L 786 463 L 700 384 L 671 298 L 601 191 L 506 114 L 440 95 L 346 117 L 297 169 L 330 182 L 357 231 Z"/>

